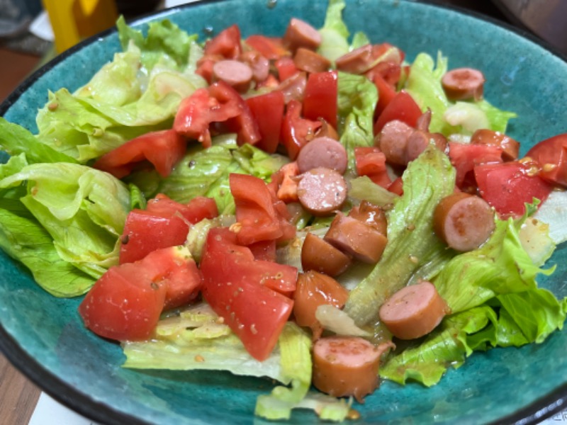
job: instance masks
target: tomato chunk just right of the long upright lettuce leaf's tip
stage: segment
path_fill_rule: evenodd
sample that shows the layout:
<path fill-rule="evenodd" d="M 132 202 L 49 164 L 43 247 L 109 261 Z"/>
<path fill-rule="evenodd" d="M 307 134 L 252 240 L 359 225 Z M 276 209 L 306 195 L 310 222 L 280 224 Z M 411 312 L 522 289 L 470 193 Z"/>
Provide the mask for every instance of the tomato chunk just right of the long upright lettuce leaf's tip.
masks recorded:
<path fill-rule="evenodd" d="M 449 159 L 456 169 L 455 184 L 461 189 L 467 174 L 471 173 L 476 165 L 503 162 L 500 147 L 455 142 L 449 142 Z"/>

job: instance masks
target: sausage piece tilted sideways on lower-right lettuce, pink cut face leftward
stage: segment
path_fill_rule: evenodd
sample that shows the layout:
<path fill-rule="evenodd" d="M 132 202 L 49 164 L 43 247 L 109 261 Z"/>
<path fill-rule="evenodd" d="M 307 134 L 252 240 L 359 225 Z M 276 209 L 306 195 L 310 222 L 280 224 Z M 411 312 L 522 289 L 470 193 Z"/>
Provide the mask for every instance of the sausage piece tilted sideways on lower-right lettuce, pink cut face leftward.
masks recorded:
<path fill-rule="evenodd" d="M 447 302 L 435 286 L 422 280 L 394 293 L 380 307 L 378 315 L 399 339 L 415 339 L 429 334 L 449 313 Z"/>

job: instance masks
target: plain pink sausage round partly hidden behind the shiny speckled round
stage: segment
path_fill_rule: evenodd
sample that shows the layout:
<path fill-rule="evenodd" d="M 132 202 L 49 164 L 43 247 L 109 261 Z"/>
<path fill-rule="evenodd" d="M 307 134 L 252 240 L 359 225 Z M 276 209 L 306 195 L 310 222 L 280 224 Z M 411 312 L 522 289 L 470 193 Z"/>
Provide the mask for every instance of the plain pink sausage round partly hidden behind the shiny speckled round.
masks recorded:
<path fill-rule="evenodd" d="M 300 173 L 322 166 L 344 174 L 347 163 L 347 150 L 340 142 L 330 137 L 315 137 L 301 148 L 297 156 Z"/>

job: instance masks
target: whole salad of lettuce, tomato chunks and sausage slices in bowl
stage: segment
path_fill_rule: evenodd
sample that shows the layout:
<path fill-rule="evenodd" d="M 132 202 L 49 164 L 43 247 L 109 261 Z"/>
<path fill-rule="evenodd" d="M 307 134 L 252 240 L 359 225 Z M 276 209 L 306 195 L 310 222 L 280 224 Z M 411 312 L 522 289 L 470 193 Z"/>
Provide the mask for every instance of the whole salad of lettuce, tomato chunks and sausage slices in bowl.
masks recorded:
<path fill-rule="evenodd" d="M 123 52 L 38 134 L 0 119 L 0 246 L 84 296 L 124 367 L 267 377 L 257 415 L 340 421 L 378 376 L 434 385 L 563 327 L 537 276 L 567 239 L 567 135 L 518 158 L 481 71 L 351 38 L 344 6 L 281 38 L 120 19 Z"/>

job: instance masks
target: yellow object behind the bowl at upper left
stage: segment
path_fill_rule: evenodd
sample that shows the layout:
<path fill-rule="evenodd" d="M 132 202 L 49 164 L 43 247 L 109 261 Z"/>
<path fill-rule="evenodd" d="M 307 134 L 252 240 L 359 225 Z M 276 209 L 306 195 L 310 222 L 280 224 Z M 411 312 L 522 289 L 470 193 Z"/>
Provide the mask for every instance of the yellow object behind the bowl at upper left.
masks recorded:
<path fill-rule="evenodd" d="M 114 0 L 43 0 L 43 7 L 51 21 L 57 52 L 111 28 L 118 18 Z"/>

